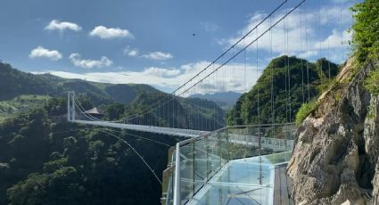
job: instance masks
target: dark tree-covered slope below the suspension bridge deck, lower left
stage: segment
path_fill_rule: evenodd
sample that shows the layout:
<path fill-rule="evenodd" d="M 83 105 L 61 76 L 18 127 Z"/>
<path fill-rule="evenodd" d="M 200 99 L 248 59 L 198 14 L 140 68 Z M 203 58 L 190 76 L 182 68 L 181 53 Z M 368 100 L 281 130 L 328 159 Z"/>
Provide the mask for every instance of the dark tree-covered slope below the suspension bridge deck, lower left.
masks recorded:
<path fill-rule="evenodd" d="M 0 204 L 158 204 L 161 184 L 126 144 L 55 120 L 60 109 L 54 108 L 63 102 L 50 99 L 44 108 L 0 124 Z M 166 168 L 167 147 L 117 135 L 143 154 L 156 173 Z M 153 137 L 177 142 L 173 136 Z"/>

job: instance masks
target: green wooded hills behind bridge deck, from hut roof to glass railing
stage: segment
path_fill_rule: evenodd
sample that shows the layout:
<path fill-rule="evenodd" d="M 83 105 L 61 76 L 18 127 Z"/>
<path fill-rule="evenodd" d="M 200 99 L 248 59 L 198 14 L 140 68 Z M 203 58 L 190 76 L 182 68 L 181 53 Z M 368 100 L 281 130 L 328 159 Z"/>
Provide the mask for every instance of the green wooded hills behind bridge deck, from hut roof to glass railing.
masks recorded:
<path fill-rule="evenodd" d="M 112 103 L 104 106 L 104 118 L 108 120 L 125 119 L 144 113 L 152 104 L 163 102 L 171 96 L 163 93 L 142 92 L 128 104 Z M 158 123 L 163 127 L 189 127 L 199 130 L 216 130 L 225 126 L 224 111 L 216 102 L 200 98 L 174 98 L 161 103 L 159 109 L 149 113 L 149 117 L 136 117 L 130 123 L 150 125 Z M 175 113 L 175 114 L 174 114 Z M 147 114 L 146 114 L 147 116 Z"/>

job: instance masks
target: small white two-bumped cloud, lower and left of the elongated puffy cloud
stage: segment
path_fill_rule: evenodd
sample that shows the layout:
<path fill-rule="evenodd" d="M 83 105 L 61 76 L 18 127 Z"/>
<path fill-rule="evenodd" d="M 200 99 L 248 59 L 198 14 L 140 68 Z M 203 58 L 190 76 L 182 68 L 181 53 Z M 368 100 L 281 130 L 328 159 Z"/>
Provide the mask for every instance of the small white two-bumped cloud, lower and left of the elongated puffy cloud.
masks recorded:
<path fill-rule="evenodd" d="M 79 53 L 71 53 L 69 59 L 72 64 L 84 69 L 109 67 L 113 64 L 113 61 L 105 56 L 102 56 L 100 60 L 81 59 Z"/>

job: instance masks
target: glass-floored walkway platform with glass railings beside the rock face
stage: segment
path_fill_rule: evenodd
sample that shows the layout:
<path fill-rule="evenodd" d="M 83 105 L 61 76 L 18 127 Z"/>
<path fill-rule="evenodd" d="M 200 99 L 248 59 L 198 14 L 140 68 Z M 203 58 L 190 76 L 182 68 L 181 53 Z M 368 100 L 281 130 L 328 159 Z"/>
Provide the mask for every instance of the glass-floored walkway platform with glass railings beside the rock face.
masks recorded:
<path fill-rule="evenodd" d="M 226 127 L 177 143 L 162 204 L 274 204 L 276 168 L 291 158 L 290 124 Z"/>

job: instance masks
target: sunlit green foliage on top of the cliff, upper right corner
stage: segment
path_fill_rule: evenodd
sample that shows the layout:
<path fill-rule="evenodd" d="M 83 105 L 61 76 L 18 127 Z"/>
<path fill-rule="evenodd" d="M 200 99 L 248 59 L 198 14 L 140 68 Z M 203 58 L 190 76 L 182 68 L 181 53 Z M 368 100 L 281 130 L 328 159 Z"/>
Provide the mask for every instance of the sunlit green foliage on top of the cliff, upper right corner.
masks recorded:
<path fill-rule="evenodd" d="M 358 61 L 377 59 L 379 53 L 379 1 L 365 0 L 351 8 L 355 23 L 352 45 Z"/>

